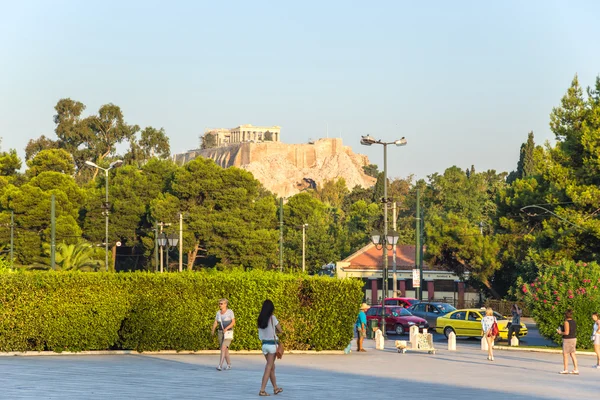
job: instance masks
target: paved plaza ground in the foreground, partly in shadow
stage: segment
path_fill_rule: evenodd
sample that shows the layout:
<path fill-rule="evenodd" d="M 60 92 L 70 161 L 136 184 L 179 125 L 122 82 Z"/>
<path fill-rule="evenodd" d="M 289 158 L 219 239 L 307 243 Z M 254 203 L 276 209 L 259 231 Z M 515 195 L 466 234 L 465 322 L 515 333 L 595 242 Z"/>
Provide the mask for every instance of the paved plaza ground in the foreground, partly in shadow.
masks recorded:
<path fill-rule="evenodd" d="M 372 346 L 372 341 L 367 341 Z M 276 399 L 591 399 L 600 370 L 579 357 L 580 376 L 561 376 L 561 355 L 496 351 L 474 346 L 398 354 L 369 349 L 349 355 L 288 355 L 277 362 Z M 255 399 L 264 358 L 232 356 L 218 372 L 214 355 L 0 357 L 1 399 Z M 272 388 L 268 387 L 271 392 Z"/>

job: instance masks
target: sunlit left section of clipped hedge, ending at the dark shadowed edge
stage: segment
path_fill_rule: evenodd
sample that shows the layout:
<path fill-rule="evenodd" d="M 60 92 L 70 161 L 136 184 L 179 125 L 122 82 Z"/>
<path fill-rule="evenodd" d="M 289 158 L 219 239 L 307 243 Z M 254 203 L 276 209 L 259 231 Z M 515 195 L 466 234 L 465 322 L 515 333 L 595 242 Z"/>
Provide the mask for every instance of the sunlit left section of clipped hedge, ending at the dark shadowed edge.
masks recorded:
<path fill-rule="evenodd" d="M 0 350 L 109 349 L 128 300 L 114 274 L 0 274 Z"/>

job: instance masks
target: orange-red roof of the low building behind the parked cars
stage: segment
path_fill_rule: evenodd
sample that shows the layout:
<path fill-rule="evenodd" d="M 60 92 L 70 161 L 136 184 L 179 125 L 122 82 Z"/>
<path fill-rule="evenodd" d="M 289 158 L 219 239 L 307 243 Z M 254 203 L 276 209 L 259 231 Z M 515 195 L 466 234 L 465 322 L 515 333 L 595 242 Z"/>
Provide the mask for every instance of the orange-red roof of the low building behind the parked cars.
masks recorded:
<path fill-rule="evenodd" d="M 392 267 L 393 251 L 388 250 L 388 266 Z M 383 268 L 383 249 L 377 249 L 373 243 L 369 243 L 356 253 L 348 256 L 342 263 L 343 268 L 360 270 L 380 270 Z M 396 246 L 396 268 L 399 270 L 412 270 L 415 268 L 415 246 L 398 245 Z M 442 266 L 431 266 L 423 262 L 424 271 L 446 271 Z"/>

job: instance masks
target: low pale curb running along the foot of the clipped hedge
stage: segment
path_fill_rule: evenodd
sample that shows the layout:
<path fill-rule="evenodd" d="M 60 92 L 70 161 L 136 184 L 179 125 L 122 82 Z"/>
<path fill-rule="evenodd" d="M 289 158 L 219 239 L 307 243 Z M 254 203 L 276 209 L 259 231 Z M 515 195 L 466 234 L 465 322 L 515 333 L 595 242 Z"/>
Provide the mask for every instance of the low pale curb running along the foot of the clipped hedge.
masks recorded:
<path fill-rule="evenodd" d="M 260 350 L 231 350 L 229 352 L 232 355 L 241 356 L 257 356 L 262 355 Z M 164 356 L 164 355 L 197 355 L 197 356 L 208 356 L 208 355 L 219 355 L 219 350 L 161 350 L 161 351 L 144 351 L 138 352 L 136 350 L 91 350 L 91 351 L 63 351 L 62 353 L 56 353 L 53 351 L 8 351 L 0 353 L 0 357 L 40 357 L 40 356 Z M 328 355 L 342 355 L 343 350 L 288 350 L 284 354 L 291 355 L 313 355 L 313 356 L 328 356 Z"/>

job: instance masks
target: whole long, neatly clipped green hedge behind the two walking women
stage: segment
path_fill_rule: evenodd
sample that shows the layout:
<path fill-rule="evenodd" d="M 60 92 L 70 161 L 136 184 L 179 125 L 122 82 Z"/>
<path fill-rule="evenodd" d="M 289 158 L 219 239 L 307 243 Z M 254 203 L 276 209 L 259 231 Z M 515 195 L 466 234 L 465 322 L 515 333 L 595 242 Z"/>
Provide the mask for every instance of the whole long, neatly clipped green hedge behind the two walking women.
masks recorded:
<path fill-rule="evenodd" d="M 274 272 L 0 274 L 0 351 L 218 348 L 218 300 L 235 312 L 233 350 L 259 349 L 271 299 L 288 349 L 343 349 L 362 282 Z"/>

